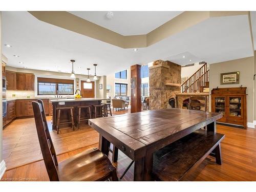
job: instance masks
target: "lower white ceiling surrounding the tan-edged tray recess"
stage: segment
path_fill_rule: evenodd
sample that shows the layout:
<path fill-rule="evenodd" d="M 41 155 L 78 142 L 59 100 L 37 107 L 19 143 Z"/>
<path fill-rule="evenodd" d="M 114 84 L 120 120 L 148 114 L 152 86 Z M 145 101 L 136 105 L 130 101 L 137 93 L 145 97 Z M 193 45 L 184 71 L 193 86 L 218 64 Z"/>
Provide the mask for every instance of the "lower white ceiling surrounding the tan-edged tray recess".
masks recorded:
<path fill-rule="evenodd" d="M 175 14 L 177 13 L 170 15 Z M 62 28 L 42 22 L 26 11 L 2 12 L 2 50 L 8 57 L 8 65 L 13 67 L 70 73 L 70 59 L 75 59 L 75 73 L 86 74 L 88 67 L 93 68 L 93 63 L 98 63 L 98 75 L 111 74 L 135 63 L 145 64 L 157 59 L 168 59 L 179 65 L 187 65 L 198 61 L 215 63 L 253 56 L 248 14 L 225 16 L 218 12 L 211 15 L 214 16 L 204 17 L 200 22 L 186 28 L 182 28 L 184 23 L 178 23 L 176 29 L 180 28 L 174 33 L 164 33 L 166 26 L 162 25 L 146 35 L 148 39 L 153 39 L 151 44 L 138 48 L 135 52 L 132 46 L 124 49 L 122 46 L 84 35 L 83 31 L 78 33 L 67 29 L 70 26 Z M 179 20 L 180 16 L 181 14 L 174 18 Z M 123 23 L 125 21 L 130 22 L 130 17 L 124 19 Z M 164 17 L 161 22 L 165 22 Z M 155 23 L 154 28 L 161 25 L 161 22 Z M 64 20 L 63 23 L 69 23 L 69 20 Z M 114 30 L 110 26 L 106 28 Z M 135 27 L 131 29 L 133 30 L 129 34 L 142 33 L 141 30 L 136 31 Z M 145 31 L 151 29 L 148 26 Z M 158 38 L 158 29 L 163 30 L 161 38 Z M 109 33 L 112 35 L 115 32 Z M 91 34 L 95 35 L 94 32 Z M 150 34 L 155 35 L 154 38 L 150 38 Z M 8 48 L 4 44 L 12 47 Z"/>

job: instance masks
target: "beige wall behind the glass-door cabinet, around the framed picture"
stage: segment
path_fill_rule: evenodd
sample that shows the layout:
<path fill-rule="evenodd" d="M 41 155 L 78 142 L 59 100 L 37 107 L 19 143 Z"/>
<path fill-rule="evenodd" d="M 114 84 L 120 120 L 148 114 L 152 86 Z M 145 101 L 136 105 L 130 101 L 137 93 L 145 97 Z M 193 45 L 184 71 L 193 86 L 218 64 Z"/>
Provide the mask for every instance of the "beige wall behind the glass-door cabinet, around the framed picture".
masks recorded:
<path fill-rule="evenodd" d="M 240 72 L 239 84 L 220 84 L 220 74 L 228 72 Z M 254 112 L 254 57 L 246 57 L 236 60 L 230 60 L 219 63 L 212 63 L 209 65 L 209 87 L 210 90 L 214 88 L 228 88 L 228 87 L 247 87 L 247 121 L 253 122 L 253 112 Z M 210 103 L 209 103 L 210 105 Z M 210 109 L 210 108 L 209 108 Z"/>

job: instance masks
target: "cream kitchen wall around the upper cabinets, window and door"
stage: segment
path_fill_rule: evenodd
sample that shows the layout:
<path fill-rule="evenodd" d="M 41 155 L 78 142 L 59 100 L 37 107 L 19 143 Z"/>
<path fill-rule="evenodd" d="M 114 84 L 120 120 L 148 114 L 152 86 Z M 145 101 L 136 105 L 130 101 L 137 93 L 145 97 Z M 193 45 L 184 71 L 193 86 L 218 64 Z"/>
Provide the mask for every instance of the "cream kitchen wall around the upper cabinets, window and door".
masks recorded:
<path fill-rule="evenodd" d="M 8 71 L 15 71 L 15 72 L 22 72 L 22 73 L 33 73 L 35 74 L 35 76 L 49 76 L 49 77 L 59 77 L 59 78 L 70 78 L 70 74 L 69 73 L 59 73 L 59 72 L 52 72 L 52 71 L 41 71 L 41 70 L 32 70 L 32 69 L 23 69 L 23 68 L 14 68 L 14 67 L 10 67 L 7 66 L 6 70 Z M 76 74 L 76 79 L 79 80 L 87 80 L 87 75 L 78 75 Z M 90 76 L 91 79 L 93 79 L 93 76 Z M 98 80 L 95 81 L 95 97 L 101 97 L 101 98 L 105 98 L 105 91 L 101 91 L 98 89 L 98 85 L 99 82 L 103 82 L 104 77 L 100 77 L 98 76 Z M 103 89 L 102 90 L 106 90 L 106 86 L 104 86 L 104 84 L 106 84 L 106 80 L 103 84 Z M 79 81 L 79 86 L 76 87 L 76 83 L 74 86 L 74 90 L 76 89 L 80 89 L 80 81 Z M 101 93 L 102 92 L 102 93 Z M 15 96 L 13 97 L 12 95 L 15 94 Z M 35 97 L 36 96 L 36 91 L 7 91 L 6 93 L 7 98 L 26 98 L 27 96 L 30 97 Z"/>

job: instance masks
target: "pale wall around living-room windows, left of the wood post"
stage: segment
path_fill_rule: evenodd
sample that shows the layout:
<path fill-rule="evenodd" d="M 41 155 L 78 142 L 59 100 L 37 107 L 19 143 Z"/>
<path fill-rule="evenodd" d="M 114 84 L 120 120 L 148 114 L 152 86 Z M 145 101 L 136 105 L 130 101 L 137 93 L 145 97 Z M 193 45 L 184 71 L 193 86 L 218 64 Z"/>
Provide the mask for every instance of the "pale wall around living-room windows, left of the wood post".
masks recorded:
<path fill-rule="evenodd" d="M 106 76 L 106 85 L 111 86 L 110 93 L 106 93 L 107 96 L 110 96 L 111 99 L 115 96 L 115 83 L 126 83 L 127 87 L 127 96 L 131 96 L 131 70 L 127 69 L 127 79 L 117 79 L 115 78 L 115 73 Z"/>

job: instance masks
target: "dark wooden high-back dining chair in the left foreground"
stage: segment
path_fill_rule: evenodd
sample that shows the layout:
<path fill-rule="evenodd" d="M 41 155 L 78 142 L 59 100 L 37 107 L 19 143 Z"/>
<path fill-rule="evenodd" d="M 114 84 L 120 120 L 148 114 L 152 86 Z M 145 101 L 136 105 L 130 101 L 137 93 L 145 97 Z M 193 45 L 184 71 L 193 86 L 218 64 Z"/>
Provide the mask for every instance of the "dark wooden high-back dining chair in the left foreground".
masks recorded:
<path fill-rule="evenodd" d="M 62 162 L 57 162 L 48 130 L 44 104 L 32 101 L 36 131 L 50 181 L 118 181 L 116 168 L 97 148 L 84 151 Z M 56 160 L 55 160 L 56 159 Z"/>

